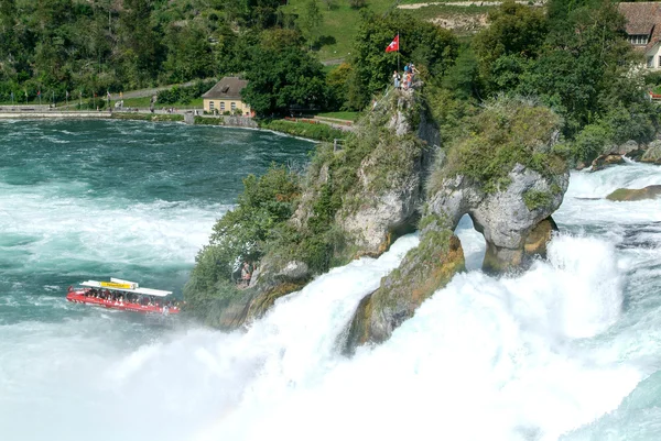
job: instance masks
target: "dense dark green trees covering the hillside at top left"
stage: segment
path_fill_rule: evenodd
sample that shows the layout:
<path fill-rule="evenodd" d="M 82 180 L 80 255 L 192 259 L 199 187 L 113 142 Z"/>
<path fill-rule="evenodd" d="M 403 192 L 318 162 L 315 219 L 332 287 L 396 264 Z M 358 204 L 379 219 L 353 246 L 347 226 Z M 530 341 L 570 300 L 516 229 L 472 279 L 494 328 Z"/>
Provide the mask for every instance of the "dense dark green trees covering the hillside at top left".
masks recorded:
<path fill-rule="evenodd" d="M 0 84 L 86 97 L 245 69 L 260 32 L 284 25 L 278 0 L 3 0 Z M 18 4 L 18 7 L 17 7 Z M 279 22 L 280 20 L 280 22 Z M 291 20 L 289 20 L 291 22 Z M 3 90 L 0 90 L 3 99 Z M 73 93 L 72 93 L 73 95 Z"/>

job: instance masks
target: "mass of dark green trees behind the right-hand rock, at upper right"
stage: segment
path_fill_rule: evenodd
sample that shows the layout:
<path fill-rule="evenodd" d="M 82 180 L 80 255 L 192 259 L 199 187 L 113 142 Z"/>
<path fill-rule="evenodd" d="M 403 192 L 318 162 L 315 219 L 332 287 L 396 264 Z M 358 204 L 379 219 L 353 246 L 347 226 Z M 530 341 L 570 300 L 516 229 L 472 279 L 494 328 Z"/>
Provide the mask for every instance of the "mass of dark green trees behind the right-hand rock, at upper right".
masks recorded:
<path fill-rule="evenodd" d="M 551 0 L 544 15 L 539 8 L 506 2 L 489 21 L 472 51 L 462 52 L 429 93 L 441 100 L 430 102 L 446 139 L 469 128 L 464 117 L 472 113 L 470 101 L 456 100 L 479 102 L 503 92 L 534 97 L 553 109 L 565 139 L 556 151 L 574 163 L 592 161 L 613 144 L 653 139 L 659 110 L 644 91 L 661 77 L 631 68 L 640 60 L 614 3 Z"/>

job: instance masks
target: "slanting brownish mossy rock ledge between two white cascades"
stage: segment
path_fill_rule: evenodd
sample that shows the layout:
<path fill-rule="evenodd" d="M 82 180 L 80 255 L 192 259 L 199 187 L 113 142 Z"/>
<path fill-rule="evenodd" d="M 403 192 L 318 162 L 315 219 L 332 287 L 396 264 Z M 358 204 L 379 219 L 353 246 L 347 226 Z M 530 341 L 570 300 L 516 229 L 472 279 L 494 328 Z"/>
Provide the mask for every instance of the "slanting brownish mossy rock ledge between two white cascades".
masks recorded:
<path fill-rule="evenodd" d="M 387 340 L 425 299 L 464 269 L 462 244 L 442 217 L 425 217 L 421 228 L 420 245 L 358 306 L 344 343 L 346 352 Z"/>

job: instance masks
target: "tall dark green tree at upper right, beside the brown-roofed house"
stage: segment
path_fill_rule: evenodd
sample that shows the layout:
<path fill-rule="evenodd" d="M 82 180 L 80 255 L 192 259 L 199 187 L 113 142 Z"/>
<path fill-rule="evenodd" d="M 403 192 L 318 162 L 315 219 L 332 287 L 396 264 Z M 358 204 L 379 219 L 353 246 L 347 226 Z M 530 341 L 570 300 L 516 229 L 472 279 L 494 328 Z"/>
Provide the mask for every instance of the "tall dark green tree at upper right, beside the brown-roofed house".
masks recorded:
<path fill-rule="evenodd" d="M 518 90 L 553 107 L 565 119 L 565 134 L 573 136 L 608 110 L 602 98 L 628 75 L 632 52 L 624 35 L 624 19 L 611 3 L 573 10 L 550 30 Z"/>

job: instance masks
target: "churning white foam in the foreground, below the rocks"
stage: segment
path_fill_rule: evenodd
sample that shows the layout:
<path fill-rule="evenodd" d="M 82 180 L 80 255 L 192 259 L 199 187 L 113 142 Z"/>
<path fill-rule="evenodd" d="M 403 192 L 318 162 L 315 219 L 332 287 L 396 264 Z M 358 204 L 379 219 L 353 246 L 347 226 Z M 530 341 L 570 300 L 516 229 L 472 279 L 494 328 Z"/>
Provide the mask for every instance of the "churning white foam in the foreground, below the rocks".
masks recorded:
<path fill-rule="evenodd" d="M 175 332 L 127 353 L 97 322 L 58 334 L 22 323 L 0 343 L 11 378 L 0 427 L 21 440 L 548 441 L 615 409 L 641 379 L 598 340 L 621 313 L 613 247 L 572 236 L 519 277 L 456 276 L 388 342 L 338 355 L 360 298 L 415 241 L 318 277 L 246 332 Z M 85 418 L 72 425 L 76 409 Z"/>

